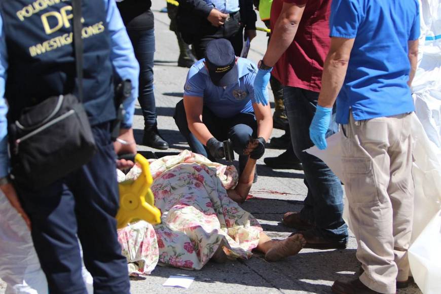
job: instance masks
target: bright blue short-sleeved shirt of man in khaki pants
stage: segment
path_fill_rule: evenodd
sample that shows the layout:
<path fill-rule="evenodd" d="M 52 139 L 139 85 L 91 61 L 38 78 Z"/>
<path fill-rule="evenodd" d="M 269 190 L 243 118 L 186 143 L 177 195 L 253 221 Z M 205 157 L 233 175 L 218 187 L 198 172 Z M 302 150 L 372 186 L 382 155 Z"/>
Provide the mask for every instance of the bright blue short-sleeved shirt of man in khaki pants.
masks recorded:
<path fill-rule="evenodd" d="M 413 112 L 408 41 L 420 35 L 418 0 L 333 0 L 330 36 L 353 39 L 337 122 Z"/>

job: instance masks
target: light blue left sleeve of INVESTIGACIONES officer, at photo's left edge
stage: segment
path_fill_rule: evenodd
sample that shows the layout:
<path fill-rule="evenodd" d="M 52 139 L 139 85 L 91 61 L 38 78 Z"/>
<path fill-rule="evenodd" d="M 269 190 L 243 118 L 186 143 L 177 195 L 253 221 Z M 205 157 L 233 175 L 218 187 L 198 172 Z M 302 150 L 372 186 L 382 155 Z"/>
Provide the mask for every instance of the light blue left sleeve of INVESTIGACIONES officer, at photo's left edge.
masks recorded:
<path fill-rule="evenodd" d="M 0 177 L 9 173 L 8 154 L 8 106 L 5 101 L 6 70 L 8 68 L 8 52 L 6 50 L 3 19 L 0 15 Z"/>

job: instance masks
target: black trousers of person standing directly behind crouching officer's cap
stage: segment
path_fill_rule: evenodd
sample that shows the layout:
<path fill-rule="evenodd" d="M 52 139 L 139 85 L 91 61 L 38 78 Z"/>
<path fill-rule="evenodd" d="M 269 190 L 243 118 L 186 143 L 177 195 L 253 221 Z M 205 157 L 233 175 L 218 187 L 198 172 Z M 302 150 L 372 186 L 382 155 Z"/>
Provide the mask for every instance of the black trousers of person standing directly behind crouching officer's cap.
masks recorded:
<path fill-rule="evenodd" d="M 208 21 L 204 21 L 199 33 L 193 39 L 193 48 L 196 58 L 205 57 L 205 46 L 215 39 L 227 39 L 233 45 L 234 53 L 240 56 L 243 46 L 243 26 L 240 24 L 240 13 L 230 13 L 230 18 L 223 26 L 215 27 Z"/>

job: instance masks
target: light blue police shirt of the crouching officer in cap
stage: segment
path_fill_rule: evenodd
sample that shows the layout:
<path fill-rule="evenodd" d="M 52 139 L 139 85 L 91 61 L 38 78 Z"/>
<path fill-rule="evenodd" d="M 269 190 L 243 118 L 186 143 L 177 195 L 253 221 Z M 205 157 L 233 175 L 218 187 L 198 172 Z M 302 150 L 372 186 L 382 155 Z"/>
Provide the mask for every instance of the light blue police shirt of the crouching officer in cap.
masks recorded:
<path fill-rule="evenodd" d="M 184 94 L 204 98 L 207 106 L 219 118 L 231 118 L 239 113 L 253 112 L 253 83 L 257 68 L 250 60 L 238 58 L 236 66 L 239 78 L 235 84 L 218 87 L 211 82 L 207 68 L 201 59 L 190 68 L 184 86 Z"/>

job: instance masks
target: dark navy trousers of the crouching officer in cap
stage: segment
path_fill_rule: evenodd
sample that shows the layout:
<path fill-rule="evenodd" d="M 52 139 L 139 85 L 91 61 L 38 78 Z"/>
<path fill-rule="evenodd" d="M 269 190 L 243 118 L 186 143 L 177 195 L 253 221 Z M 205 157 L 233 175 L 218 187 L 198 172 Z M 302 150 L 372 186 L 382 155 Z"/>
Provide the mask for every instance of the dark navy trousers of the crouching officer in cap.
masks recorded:
<path fill-rule="evenodd" d="M 214 161 L 205 146 L 190 132 L 183 100 L 176 104 L 173 118 L 180 133 L 187 139 L 192 152 Z M 239 155 L 239 173 L 241 173 L 248 161 L 248 156 L 243 154 L 245 146 L 248 144 L 250 136 L 255 138 L 257 135 L 257 122 L 254 114 L 240 113 L 226 120 L 216 117 L 210 109 L 204 106 L 202 122 L 217 140 L 231 140 L 234 152 Z"/>

